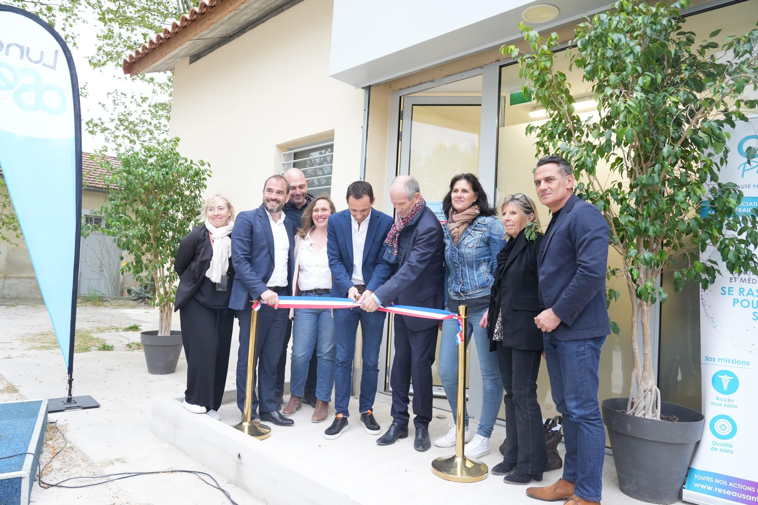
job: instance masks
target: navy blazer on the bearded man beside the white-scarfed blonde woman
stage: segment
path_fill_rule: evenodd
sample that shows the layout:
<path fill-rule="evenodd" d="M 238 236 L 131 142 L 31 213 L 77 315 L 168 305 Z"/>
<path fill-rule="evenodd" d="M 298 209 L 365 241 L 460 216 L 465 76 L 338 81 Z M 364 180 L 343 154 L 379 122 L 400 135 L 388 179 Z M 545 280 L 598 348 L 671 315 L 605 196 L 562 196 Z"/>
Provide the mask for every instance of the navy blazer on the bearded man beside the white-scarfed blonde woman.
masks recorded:
<path fill-rule="evenodd" d="M 287 289 L 282 295 L 290 295 L 295 265 L 296 225 L 285 217 L 284 226 L 290 238 L 290 257 L 287 260 Z M 229 308 L 248 309 L 249 301 L 257 299 L 268 289 L 266 282 L 274 272 L 274 234 L 263 205 L 237 214 L 232 235 L 232 264 L 236 282 L 232 286 Z"/>

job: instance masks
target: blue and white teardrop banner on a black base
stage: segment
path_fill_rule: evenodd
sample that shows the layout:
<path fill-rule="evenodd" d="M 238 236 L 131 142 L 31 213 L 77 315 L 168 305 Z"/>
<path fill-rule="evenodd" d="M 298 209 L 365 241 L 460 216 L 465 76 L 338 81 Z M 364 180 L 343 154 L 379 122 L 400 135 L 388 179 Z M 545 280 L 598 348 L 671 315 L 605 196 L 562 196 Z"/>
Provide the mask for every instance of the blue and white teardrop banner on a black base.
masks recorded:
<path fill-rule="evenodd" d="M 68 373 L 49 411 L 99 407 L 73 397 L 82 208 L 79 82 L 48 23 L 0 5 L 0 168 Z"/>

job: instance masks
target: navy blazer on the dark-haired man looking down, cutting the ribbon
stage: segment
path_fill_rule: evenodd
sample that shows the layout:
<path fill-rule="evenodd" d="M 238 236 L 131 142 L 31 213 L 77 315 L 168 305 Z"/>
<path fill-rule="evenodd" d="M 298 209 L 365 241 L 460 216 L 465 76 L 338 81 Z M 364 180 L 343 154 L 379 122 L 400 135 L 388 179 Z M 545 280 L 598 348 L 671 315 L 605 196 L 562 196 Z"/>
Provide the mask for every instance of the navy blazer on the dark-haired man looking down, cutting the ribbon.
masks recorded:
<path fill-rule="evenodd" d="M 366 242 L 363 246 L 363 263 L 361 270 L 366 289 L 372 292 L 384 282 L 392 272 L 390 263 L 381 259 L 383 243 L 392 228 L 393 219 L 384 212 L 371 209 L 366 230 Z M 329 217 L 327 224 L 327 255 L 329 269 L 334 276 L 330 296 L 345 298 L 352 288 L 352 221 L 350 211 L 341 210 Z"/>

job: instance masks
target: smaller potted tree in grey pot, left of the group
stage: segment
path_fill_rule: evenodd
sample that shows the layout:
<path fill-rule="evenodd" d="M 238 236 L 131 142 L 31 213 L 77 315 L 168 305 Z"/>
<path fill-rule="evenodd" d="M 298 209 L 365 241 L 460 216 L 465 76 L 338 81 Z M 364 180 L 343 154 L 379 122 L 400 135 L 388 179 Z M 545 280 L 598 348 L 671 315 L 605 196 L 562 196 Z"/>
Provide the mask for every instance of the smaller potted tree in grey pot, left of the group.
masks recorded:
<path fill-rule="evenodd" d="M 171 330 L 177 273 L 174 255 L 202 208 L 202 192 L 211 171 L 177 150 L 179 139 L 143 144 L 119 154 L 114 167 L 106 157 L 100 166 L 108 201 L 100 207 L 102 232 L 115 237 L 127 257 L 122 273 L 140 284 L 155 285 L 158 329 L 140 334 L 148 372 L 174 373 L 182 349 L 181 332 Z"/>

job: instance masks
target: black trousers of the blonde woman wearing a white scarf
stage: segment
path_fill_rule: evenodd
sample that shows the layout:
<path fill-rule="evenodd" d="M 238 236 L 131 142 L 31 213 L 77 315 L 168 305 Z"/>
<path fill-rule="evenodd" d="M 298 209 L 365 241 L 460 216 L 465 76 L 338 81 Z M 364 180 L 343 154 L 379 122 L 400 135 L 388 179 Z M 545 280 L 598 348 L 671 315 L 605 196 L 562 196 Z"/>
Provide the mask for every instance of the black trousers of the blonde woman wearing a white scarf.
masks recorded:
<path fill-rule="evenodd" d="M 187 360 L 184 399 L 188 404 L 218 410 L 227 382 L 234 311 L 211 309 L 190 298 L 180 308 L 179 319 Z"/>

